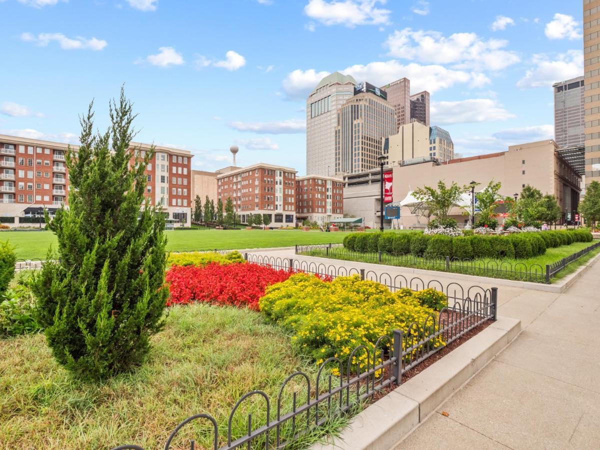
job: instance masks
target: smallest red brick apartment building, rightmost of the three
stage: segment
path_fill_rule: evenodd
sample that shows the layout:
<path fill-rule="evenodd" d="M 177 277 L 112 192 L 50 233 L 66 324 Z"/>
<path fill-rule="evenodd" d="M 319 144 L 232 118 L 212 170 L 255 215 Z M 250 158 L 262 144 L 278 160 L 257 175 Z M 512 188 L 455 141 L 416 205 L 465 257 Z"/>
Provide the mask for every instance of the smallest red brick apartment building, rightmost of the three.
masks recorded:
<path fill-rule="evenodd" d="M 319 224 L 335 222 L 344 217 L 344 184 L 328 176 L 299 176 L 296 178 L 296 216 L 298 221 Z"/>

